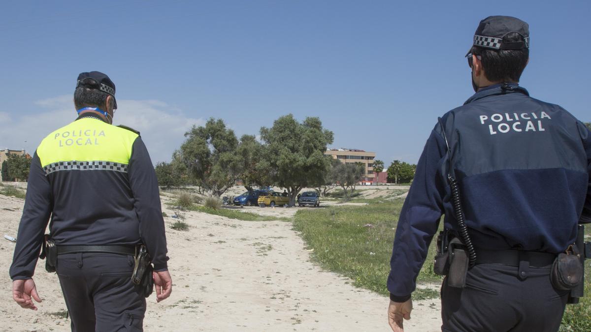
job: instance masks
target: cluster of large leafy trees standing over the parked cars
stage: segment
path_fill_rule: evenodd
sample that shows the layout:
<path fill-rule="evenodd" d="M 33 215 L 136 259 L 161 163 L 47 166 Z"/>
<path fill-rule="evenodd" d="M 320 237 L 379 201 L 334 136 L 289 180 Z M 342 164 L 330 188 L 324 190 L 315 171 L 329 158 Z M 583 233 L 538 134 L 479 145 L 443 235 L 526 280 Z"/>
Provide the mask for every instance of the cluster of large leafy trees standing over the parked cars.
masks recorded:
<path fill-rule="evenodd" d="M 254 185 L 285 188 L 290 205 L 304 187 L 319 187 L 330 173 L 330 158 L 324 156 L 333 133 L 319 118 L 298 122 L 293 115 L 281 116 L 271 128 L 263 127 L 258 141 L 253 135 L 236 138 L 222 119 L 209 119 L 193 126 L 170 163 L 156 165 L 158 183 L 197 185 L 202 193 L 221 196 L 236 181 L 246 189 Z"/>

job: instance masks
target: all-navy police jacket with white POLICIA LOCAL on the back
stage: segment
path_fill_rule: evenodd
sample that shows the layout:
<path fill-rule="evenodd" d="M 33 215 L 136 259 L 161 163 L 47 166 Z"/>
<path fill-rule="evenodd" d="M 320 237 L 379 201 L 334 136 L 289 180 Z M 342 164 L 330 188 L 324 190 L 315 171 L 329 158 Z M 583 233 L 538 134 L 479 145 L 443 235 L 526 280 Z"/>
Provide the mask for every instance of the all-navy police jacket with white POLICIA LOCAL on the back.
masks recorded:
<path fill-rule="evenodd" d="M 569 112 L 517 84 L 495 84 L 442 122 L 477 255 L 478 248 L 558 253 L 574 242 L 577 222 L 591 222 L 591 132 Z M 447 229 L 459 230 L 448 158 L 438 124 L 398 221 L 388 276 L 394 301 L 414 291 L 441 214 Z"/>

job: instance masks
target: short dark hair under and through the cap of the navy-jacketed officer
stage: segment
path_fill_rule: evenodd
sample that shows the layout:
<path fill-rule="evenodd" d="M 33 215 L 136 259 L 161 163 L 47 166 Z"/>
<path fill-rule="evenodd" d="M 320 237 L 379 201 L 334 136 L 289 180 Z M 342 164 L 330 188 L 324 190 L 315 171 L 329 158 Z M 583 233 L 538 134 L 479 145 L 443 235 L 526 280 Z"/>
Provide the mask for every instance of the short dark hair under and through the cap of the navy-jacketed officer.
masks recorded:
<path fill-rule="evenodd" d="M 511 32 L 505 35 L 503 41 L 523 41 L 523 37 L 517 32 Z M 521 77 L 530 57 L 528 48 L 491 50 L 490 48 L 473 46 L 472 53 L 482 57 L 482 67 L 486 79 L 491 82 L 519 82 L 519 77 Z"/>

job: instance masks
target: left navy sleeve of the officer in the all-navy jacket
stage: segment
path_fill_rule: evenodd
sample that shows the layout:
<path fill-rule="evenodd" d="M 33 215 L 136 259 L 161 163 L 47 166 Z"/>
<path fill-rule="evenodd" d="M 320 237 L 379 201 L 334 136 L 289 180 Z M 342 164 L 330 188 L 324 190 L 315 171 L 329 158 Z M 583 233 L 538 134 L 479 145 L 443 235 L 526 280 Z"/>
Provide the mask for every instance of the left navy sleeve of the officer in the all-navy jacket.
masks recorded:
<path fill-rule="evenodd" d="M 416 287 L 418 272 L 427 258 L 431 239 L 439 227 L 445 195 L 440 175 L 443 147 L 441 135 L 432 131 L 400 211 L 388 276 L 392 301 L 404 302 L 410 298 Z"/>

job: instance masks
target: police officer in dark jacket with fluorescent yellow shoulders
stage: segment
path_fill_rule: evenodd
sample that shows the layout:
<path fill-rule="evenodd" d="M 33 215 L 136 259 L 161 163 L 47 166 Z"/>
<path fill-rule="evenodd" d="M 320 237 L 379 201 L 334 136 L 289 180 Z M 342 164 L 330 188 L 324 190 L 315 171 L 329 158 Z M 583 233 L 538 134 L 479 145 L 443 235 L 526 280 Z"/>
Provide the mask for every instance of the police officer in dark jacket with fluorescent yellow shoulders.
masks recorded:
<path fill-rule="evenodd" d="M 141 331 L 146 301 L 131 281 L 138 245 L 154 264 L 157 301 L 172 291 L 154 168 L 139 133 L 111 125 L 117 103 L 106 74 L 81 73 L 74 105 L 76 121 L 33 156 L 10 268 L 13 298 L 32 310 L 33 299 L 41 302 L 33 273 L 51 217 L 72 331 Z"/>

